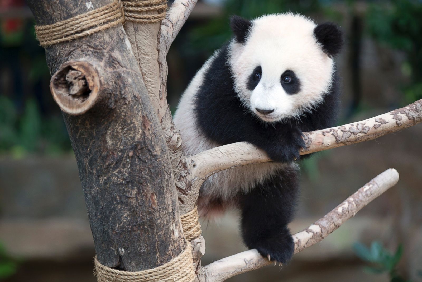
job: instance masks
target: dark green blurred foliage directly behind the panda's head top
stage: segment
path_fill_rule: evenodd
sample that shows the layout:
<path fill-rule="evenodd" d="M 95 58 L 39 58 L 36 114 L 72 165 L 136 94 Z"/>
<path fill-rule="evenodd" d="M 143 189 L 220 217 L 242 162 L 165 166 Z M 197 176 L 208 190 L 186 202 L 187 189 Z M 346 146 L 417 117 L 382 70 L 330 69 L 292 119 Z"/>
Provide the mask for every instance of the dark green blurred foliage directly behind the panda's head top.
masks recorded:
<path fill-rule="evenodd" d="M 219 16 L 207 21 L 205 25 L 192 29 L 187 48 L 190 47 L 189 51 L 192 53 L 206 52 L 208 56 L 211 55 L 231 37 L 229 19 L 232 15 L 251 19 L 263 14 L 291 11 L 307 16 L 323 13 L 330 19 L 340 20 L 340 14 L 330 7 L 332 2 L 330 0 L 227 0 Z"/>

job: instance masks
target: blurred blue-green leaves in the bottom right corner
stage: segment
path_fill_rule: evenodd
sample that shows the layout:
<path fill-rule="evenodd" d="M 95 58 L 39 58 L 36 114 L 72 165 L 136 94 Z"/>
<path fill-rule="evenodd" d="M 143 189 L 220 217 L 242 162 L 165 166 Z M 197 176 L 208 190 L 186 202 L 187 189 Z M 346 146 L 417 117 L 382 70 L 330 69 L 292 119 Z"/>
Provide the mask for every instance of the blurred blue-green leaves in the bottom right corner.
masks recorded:
<path fill-rule="evenodd" d="M 362 243 L 355 243 L 353 246 L 355 254 L 363 261 L 369 264 L 365 271 L 372 274 L 388 273 L 391 282 L 410 282 L 398 274 L 397 265 L 403 255 L 403 246 L 399 245 L 394 253 L 379 241 L 373 241 L 371 247 L 367 248 Z"/>

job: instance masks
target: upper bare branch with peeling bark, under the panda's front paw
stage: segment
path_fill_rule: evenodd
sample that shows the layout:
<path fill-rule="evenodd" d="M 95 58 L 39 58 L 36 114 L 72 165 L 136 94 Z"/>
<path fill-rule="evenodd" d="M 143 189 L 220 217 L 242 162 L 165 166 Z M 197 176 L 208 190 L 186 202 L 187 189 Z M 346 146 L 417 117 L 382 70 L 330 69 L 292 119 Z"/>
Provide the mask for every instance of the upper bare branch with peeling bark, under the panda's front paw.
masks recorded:
<path fill-rule="evenodd" d="M 393 110 L 367 120 L 343 126 L 305 132 L 306 148 L 301 155 L 351 145 L 396 132 L 422 121 L 422 99 L 406 107 Z M 192 167 L 192 179 L 205 179 L 231 167 L 259 162 L 271 162 L 267 154 L 247 142 L 224 145 L 188 158 Z M 202 183 L 201 183 L 202 184 Z"/>

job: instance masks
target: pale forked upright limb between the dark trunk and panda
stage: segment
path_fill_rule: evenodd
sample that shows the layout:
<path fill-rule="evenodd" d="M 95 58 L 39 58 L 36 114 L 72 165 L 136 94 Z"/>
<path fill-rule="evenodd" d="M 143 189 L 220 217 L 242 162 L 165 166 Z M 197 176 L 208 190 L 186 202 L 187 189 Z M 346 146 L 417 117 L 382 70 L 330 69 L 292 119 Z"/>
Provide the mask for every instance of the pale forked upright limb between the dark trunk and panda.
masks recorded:
<path fill-rule="evenodd" d="M 155 113 L 160 120 L 164 131 L 164 137 L 169 149 L 170 161 L 175 175 L 176 187 L 179 191 L 179 199 L 184 197 L 180 191 L 187 190 L 187 181 L 182 175 L 189 175 L 186 170 L 185 155 L 181 148 L 180 133 L 176 129 L 171 117 L 170 108 L 167 104 L 167 61 L 166 55 L 170 44 L 177 35 L 182 25 L 195 7 L 196 1 L 176 0 L 167 13 L 166 19 L 153 24 L 142 24 L 126 21 L 124 29 L 134 51 L 143 81 L 148 90 Z M 149 40 L 145 40 L 149 38 Z M 160 75 L 157 76 L 157 73 Z M 192 203 L 191 203 L 192 202 Z M 191 211 L 196 202 L 181 200 L 180 211 L 184 214 Z M 184 203 L 191 203 L 187 206 Z"/>

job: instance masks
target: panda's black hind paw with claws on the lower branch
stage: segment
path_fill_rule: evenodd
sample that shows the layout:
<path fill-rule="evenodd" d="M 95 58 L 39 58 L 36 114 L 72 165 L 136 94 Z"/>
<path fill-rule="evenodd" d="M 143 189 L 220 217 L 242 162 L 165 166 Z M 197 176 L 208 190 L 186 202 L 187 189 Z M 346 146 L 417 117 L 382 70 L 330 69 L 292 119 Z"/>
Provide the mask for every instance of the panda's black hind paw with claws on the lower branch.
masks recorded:
<path fill-rule="evenodd" d="M 293 252 L 295 251 L 292 235 L 290 235 L 287 228 L 277 237 L 266 238 L 254 242 L 252 245 L 253 246 L 250 247 L 257 249 L 263 257 L 278 263 L 287 263 L 292 258 Z"/>

